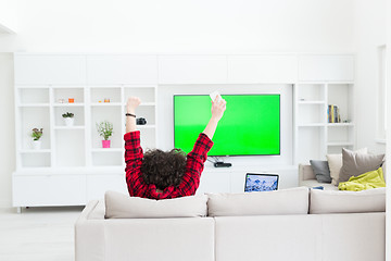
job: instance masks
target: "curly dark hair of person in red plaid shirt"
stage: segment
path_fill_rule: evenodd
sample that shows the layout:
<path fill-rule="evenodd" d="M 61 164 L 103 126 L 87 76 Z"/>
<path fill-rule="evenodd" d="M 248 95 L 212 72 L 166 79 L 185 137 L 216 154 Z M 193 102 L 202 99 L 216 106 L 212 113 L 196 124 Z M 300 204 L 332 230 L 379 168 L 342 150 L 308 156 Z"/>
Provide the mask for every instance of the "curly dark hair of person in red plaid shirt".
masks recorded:
<path fill-rule="evenodd" d="M 186 170 L 186 153 L 180 149 L 162 151 L 149 150 L 141 164 L 142 178 L 164 190 L 169 186 L 179 186 Z"/>

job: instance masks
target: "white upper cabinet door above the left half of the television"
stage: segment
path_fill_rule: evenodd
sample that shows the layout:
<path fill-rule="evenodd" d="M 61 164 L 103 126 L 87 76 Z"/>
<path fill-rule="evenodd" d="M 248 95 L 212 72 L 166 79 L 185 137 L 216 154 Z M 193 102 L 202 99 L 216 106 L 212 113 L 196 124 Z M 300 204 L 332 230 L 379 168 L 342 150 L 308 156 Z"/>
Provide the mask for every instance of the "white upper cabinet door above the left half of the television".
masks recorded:
<path fill-rule="evenodd" d="M 159 57 L 160 84 L 227 83 L 226 55 Z"/>

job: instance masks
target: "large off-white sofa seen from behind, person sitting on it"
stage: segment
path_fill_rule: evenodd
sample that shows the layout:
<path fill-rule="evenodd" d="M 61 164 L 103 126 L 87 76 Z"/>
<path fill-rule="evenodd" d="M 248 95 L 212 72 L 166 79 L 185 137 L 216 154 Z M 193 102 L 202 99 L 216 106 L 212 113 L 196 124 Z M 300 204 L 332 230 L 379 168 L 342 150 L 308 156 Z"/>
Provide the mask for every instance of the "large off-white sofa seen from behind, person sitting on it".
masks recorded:
<path fill-rule="evenodd" d="M 91 201 L 76 261 L 383 261 L 386 190 L 371 190 L 209 195 L 203 217 L 105 219 Z"/>

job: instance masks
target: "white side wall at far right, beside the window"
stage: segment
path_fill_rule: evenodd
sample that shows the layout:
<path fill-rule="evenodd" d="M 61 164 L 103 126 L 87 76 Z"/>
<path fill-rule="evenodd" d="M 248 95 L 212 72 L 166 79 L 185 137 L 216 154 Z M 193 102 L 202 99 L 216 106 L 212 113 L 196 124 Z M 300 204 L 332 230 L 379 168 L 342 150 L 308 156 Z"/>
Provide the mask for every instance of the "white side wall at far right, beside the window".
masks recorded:
<path fill-rule="evenodd" d="M 378 47 L 387 42 L 387 0 L 356 1 L 356 123 L 357 147 L 384 153 L 376 142 L 376 110 L 379 85 Z"/>

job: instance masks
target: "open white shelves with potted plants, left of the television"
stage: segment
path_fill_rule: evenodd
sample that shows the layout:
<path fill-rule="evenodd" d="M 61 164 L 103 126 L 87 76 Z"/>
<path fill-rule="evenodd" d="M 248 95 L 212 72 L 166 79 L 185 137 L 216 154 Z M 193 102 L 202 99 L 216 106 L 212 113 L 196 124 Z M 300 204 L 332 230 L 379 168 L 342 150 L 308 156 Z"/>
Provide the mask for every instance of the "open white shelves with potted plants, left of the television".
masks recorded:
<path fill-rule="evenodd" d="M 147 119 L 148 123 L 138 125 L 138 128 L 144 137 L 146 148 L 155 148 L 156 85 L 77 88 L 16 86 L 16 100 L 20 101 L 16 115 L 16 119 L 20 119 L 17 129 L 20 130 L 18 137 L 23 140 L 18 145 L 17 169 L 26 166 L 123 166 L 123 136 L 126 121 L 124 115 L 126 99 L 129 96 L 138 96 L 146 101 L 138 109 L 138 116 Z M 74 103 L 68 103 L 68 98 L 73 98 Z M 110 102 L 104 102 L 104 99 L 110 99 Z M 75 114 L 74 126 L 65 126 L 62 119 L 62 114 L 65 112 Z M 102 148 L 102 139 L 97 133 L 96 123 L 101 121 L 110 121 L 114 126 L 111 137 L 112 146 L 109 149 Z M 28 132 L 34 127 L 43 127 L 42 149 L 40 150 L 33 150 L 29 147 Z M 25 162 L 29 162 L 25 158 L 29 158 L 31 154 L 36 154 L 35 158 L 48 157 L 43 153 L 51 154 L 50 161 L 41 160 L 41 164 L 25 164 Z"/>

